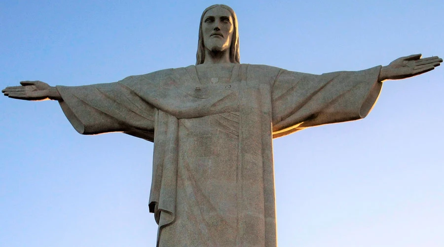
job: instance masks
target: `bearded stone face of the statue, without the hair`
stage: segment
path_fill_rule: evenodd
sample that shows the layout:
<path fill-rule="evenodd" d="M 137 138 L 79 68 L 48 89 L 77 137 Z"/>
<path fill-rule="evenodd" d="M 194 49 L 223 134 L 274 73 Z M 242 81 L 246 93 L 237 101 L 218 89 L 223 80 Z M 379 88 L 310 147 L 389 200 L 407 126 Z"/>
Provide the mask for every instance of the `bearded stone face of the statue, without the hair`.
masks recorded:
<path fill-rule="evenodd" d="M 213 52 L 229 49 L 233 30 L 233 18 L 228 10 L 222 7 L 208 10 L 202 19 L 205 48 Z"/>

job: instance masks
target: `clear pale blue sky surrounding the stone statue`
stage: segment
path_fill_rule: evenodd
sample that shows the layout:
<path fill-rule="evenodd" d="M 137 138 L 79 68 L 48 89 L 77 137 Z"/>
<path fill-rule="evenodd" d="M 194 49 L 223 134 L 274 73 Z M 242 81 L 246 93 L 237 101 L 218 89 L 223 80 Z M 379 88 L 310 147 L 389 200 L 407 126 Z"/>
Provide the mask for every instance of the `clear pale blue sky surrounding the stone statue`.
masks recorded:
<path fill-rule="evenodd" d="M 443 0 L 0 2 L 0 87 L 115 82 L 195 63 L 230 5 L 241 62 L 322 74 L 444 56 Z M 365 119 L 274 140 L 281 247 L 444 246 L 444 68 L 384 82 Z M 79 135 L 57 102 L 0 96 L 0 246 L 148 247 L 152 143 Z"/>

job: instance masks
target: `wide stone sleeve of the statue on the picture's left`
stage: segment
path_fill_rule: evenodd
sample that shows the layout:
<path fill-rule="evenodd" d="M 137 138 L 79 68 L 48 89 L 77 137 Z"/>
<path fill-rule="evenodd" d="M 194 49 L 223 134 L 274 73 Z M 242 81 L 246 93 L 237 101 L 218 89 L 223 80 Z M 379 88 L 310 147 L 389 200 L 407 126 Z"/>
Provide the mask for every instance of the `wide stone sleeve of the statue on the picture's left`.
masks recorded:
<path fill-rule="evenodd" d="M 63 112 L 80 134 L 124 132 L 153 141 L 156 109 L 120 82 L 57 86 Z"/>

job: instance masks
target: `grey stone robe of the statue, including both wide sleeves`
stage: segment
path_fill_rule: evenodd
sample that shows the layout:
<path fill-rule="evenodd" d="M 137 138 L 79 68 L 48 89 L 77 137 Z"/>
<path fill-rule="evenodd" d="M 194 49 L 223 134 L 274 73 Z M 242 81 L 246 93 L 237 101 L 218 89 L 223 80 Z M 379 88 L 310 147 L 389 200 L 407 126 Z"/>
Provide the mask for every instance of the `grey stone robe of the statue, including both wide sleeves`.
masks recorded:
<path fill-rule="evenodd" d="M 154 142 L 149 210 L 161 247 L 276 247 L 272 138 L 364 118 L 380 66 L 311 75 L 265 65 L 199 66 L 57 86 L 81 134 Z M 202 68 L 202 67 L 201 67 Z M 221 75 L 223 73 L 220 73 Z"/>

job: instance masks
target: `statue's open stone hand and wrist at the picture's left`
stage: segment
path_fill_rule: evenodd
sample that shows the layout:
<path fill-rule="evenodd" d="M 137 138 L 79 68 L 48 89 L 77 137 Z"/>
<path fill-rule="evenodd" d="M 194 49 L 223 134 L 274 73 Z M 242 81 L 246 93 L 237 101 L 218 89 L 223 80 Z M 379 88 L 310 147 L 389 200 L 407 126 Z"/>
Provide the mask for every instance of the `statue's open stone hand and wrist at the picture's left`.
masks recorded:
<path fill-rule="evenodd" d="M 20 82 L 21 86 L 8 86 L 1 90 L 4 96 L 23 100 L 59 100 L 62 101 L 57 88 L 40 81 Z"/>

